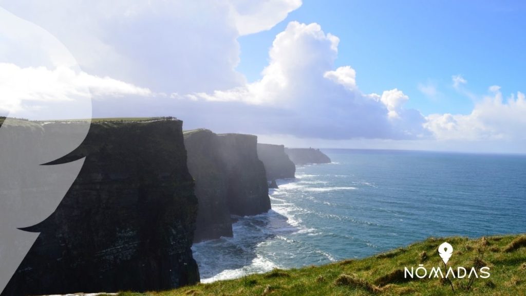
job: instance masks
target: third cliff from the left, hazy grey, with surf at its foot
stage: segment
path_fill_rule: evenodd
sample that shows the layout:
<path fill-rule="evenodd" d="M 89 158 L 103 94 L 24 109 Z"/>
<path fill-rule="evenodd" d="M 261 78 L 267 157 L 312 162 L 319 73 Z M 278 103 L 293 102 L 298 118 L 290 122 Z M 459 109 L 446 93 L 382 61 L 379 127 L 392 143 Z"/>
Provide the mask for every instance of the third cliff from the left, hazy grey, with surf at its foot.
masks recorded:
<path fill-rule="evenodd" d="M 257 136 L 219 134 L 218 140 L 228 175 L 230 213 L 245 216 L 270 210 L 265 166 L 258 159 Z"/>

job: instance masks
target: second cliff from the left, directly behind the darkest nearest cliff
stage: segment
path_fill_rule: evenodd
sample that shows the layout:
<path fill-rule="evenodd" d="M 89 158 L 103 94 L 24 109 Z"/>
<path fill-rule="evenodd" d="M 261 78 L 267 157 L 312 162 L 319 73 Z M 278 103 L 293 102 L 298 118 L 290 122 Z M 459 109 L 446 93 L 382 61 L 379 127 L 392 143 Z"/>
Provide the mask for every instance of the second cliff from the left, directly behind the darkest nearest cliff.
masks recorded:
<path fill-rule="evenodd" d="M 232 236 L 232 222 L 228 209 L 228 176 L 219 155 L 219 141 L 215 133 L 196 130 L 184 133 L 188 153 L 188 170 L 194 177 L 198 211 L 194 241 Z"/>

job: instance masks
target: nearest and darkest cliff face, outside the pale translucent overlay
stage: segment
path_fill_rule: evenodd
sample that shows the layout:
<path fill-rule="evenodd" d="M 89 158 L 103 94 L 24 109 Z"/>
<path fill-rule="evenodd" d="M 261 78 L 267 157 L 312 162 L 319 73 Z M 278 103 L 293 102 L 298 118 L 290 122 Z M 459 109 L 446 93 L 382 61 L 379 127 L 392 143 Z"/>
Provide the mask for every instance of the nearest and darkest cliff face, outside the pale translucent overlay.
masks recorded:
<path fill-rule="evenodd" d="M 92 123 L 86 157 L 2 295 L 151 291 L 199 282 L 182 122 Z M 29 132 L 29 131 L 28 131 Z"/>

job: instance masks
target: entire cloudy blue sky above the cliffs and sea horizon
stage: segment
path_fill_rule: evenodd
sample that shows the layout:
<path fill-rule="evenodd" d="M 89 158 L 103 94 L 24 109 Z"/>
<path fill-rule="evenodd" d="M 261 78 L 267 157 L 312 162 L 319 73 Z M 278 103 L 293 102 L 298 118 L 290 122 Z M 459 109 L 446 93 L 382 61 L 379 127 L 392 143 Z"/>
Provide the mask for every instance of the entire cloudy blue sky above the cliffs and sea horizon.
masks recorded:
<path fill-rule="evenodd" d="M 525 12 L 520 1 L 0 0 L 0 113 L 175 116 L 290 147 L 526 153 Z"/>

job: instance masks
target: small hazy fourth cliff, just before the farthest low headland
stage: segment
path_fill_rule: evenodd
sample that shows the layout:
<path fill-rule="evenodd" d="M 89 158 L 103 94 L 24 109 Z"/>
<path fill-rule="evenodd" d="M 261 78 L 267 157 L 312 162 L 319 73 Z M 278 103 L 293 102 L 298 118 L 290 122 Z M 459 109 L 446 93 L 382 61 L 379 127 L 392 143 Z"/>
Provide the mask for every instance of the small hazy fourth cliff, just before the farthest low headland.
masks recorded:
<path fill-rule="evenodd" d="M 295 177 L 296 165 L 285 153 L 284 145 L 258 143 L 258 157 L 265 165 L 267 180 Z"/>

